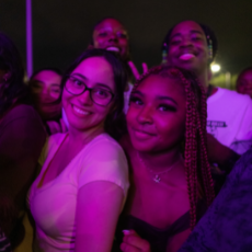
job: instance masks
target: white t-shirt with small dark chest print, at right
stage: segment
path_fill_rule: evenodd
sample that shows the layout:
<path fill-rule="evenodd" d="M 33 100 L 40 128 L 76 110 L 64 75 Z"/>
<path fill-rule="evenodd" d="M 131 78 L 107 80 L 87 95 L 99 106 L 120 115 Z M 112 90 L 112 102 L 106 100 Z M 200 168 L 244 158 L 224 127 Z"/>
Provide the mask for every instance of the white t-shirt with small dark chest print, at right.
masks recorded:
<path fill-rule="evenodd" d="M 218 88 L 218 91 L 207 100 L 207 131 L 222 145 L 238 153 L 243 153 L 251 142 L 252 100 L 250 96 Z"/>

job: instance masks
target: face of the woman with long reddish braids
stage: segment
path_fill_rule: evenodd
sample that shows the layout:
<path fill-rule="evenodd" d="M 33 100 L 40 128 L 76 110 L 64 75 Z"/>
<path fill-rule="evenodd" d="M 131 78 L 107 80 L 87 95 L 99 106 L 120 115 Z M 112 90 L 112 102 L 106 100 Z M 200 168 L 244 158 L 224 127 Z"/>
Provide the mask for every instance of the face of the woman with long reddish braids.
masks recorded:
<path fill-rule="evenodd" d="M 134 148 L 147 152 L 180 148 L 185 114 L 182 84 L 168 77 L 147 77 L 133 93 L 127 113 Z"/>

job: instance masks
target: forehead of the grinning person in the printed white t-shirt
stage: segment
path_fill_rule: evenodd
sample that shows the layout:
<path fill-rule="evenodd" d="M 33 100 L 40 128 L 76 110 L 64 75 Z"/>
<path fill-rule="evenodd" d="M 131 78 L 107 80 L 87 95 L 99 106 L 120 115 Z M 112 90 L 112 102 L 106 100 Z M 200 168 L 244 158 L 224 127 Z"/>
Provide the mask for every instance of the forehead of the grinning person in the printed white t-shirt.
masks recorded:
<path fill-rule="evenodd" d="M 183 34 L 188 34 L 188 33 L 201 33 L 205 35 L 203 28 L 196 22 L 183 21 L 175 25 L 175 27 L 172 30 L 171 36 L 183 35 Z"/>

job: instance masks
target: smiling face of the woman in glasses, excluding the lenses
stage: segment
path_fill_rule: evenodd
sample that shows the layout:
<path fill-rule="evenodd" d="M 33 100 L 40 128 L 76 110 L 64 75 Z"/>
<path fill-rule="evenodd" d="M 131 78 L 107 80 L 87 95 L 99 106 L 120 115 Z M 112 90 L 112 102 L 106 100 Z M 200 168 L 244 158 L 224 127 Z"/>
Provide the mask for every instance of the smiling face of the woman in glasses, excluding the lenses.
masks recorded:
<path fill-rule="evenodd" d="M 100 88 L 115 93 L 113 69 L 103 57 L 84 59 L 71 72 L 71 76 L 81 80 L 90 89 Z M 106 116 L 113 107 L 113 101 L 106 106 L 101 106 L 92 101 L 90 91 L 73 95 L 65 88 L 62 105 L 69 121 L 69 130 L 75 128 L 81 131 L 103 131 Z"/>

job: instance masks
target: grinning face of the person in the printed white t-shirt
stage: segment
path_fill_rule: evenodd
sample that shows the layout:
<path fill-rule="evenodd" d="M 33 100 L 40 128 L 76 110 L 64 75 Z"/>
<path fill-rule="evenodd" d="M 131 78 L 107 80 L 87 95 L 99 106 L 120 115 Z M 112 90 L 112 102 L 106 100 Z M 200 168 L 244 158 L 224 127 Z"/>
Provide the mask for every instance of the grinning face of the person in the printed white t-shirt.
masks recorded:
<path fill-rule="evenodd" d="M 169 39 L 168 61 L 201 75 L 208 69 L 208 46 L 203 28 L 194 21 L 179 23 Z"/>

